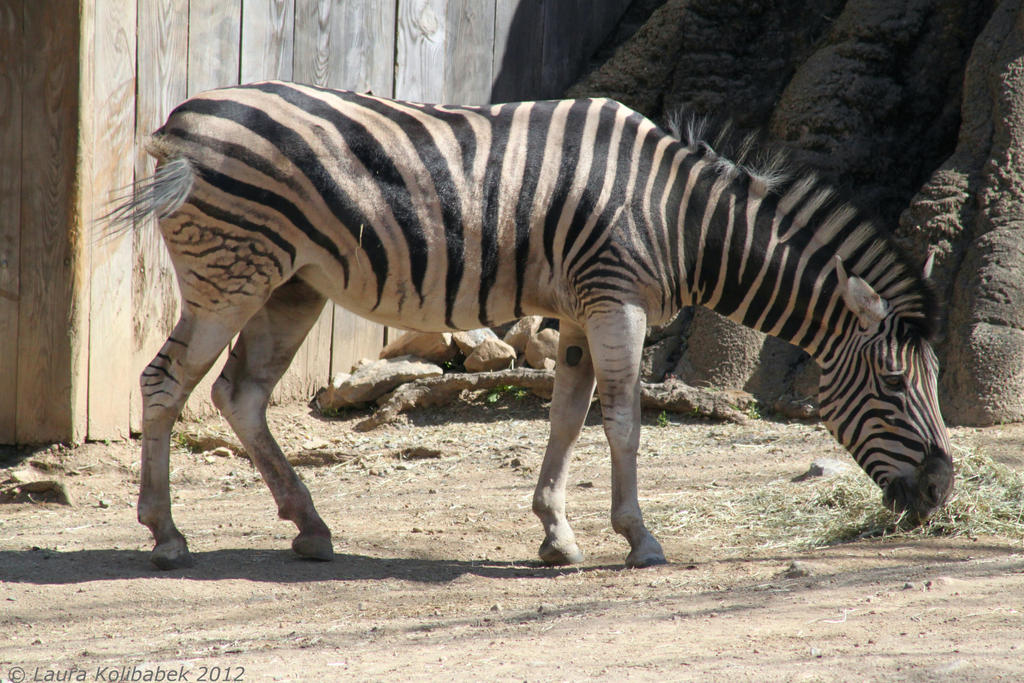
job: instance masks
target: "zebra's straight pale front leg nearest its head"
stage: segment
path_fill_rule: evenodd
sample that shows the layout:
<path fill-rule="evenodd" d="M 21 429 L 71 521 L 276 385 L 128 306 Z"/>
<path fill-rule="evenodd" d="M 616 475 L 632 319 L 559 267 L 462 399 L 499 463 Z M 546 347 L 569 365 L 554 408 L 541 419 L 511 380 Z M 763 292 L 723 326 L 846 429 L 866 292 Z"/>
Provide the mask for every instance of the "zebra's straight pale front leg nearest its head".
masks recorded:
<path fill-rule="evenodd" d="M 662 545 L 643 523 L 637 498 L 640 354 L 645 326 L 646 317 L 636 306 L 604 311 L 587 324 L 604 433 L 611 450 L 611 526 L 630 542 L 628 567 L 666 562 Z"/>

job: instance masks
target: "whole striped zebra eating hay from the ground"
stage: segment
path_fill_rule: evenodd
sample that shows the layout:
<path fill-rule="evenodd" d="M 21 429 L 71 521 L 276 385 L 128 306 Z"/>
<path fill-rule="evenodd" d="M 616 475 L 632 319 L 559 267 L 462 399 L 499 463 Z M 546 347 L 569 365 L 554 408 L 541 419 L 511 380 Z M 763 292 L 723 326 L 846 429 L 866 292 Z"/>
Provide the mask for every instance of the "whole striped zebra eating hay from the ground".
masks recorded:
<path fill-rule="evenodd" d="M 180 318 L 139 378 L 138 519 L 158 567 L 193 562 L 171 516 L 169 437 L 228 346 L 213 401 L 296 524 L 294 551 L 333 557 L 266 422 L 329 299 L 427 332 L 560 319 L 532 498 L 548 564 L 583 560 L 565 487 L 595 388 L 626 565 L 666 562 L 637 497 L 639 361 L 647 327 L 689 305 L 817 361 L 821 418 L 885 505 L 920 521 L 950 493 L 929 273 L 814 175 L 730 161 L 611 99 L 460 106 L 286 82 L 194 96 L 146 151 L 157 170 L 110 230 L 157 216 L 180 290 Z"/>

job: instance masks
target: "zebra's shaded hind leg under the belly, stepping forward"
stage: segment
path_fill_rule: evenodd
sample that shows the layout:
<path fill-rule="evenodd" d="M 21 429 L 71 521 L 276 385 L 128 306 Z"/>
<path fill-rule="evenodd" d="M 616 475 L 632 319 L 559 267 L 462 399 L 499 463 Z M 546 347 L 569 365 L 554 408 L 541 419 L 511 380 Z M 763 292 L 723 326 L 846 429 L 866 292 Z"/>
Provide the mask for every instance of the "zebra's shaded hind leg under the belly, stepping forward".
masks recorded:
<path fill-rule="evenodd" d="M 326 299 L 297 278 L 274 290 L 246 324 L 223 372 L 213 385 L 213 402 L 246 447 L 278 504 L 282 519 L 295 522 L 292 549 L 301 557 L 331 560 L 331 530 L 270 433 L 270 392 L 316 323 Z"/>

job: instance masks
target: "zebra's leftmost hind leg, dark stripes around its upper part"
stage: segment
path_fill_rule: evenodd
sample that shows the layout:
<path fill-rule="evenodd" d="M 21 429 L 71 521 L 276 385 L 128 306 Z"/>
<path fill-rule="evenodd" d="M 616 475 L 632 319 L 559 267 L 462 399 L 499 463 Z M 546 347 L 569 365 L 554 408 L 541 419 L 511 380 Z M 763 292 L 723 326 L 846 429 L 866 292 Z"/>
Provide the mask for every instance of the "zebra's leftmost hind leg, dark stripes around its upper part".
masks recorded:
<path fill-rule="evenodd" d="M 156 546 L 150 559 L 161 569 L 193 564 L 188 545 L 171 517 L 171 428 L 188 394 L 238 331 L 227 322 L 210 315 L 197 317 L 185 304 L 174 331 L 139 377 L 142 463 L 138 520 L 153 532 Z M 238 325 L 241 327 L 241 322 Z"/>

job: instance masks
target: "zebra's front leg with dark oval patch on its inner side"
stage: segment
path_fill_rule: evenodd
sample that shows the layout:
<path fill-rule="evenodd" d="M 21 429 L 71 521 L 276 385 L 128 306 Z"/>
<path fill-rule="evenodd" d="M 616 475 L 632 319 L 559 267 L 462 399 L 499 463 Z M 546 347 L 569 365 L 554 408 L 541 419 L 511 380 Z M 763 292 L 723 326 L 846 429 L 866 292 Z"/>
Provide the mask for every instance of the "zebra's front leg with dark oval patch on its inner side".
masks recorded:
<path fill-rule="evenodd" d="M 546 564 L 583 561 L 572 527 L 565 517 L 568 461 L 594 396 L 594 366 L 583 330 L 563 322 L 558 365 L 551 396 L 551 434 L 534 492 L 534 513 L 544 524 L 541 559 Z"/>

